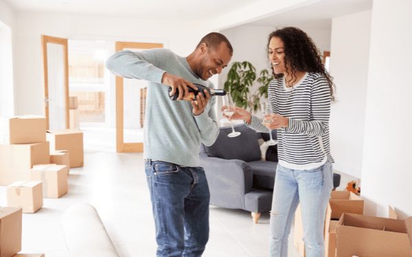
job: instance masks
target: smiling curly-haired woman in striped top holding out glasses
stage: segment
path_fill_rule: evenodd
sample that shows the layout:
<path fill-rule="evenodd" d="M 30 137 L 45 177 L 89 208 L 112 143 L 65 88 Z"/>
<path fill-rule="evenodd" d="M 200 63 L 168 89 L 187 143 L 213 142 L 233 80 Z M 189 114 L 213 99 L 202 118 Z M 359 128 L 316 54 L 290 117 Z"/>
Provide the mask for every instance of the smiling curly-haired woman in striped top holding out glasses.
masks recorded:
<path fill-rule="evenodd" d="M 236 108 L 232 119 L 242 119 L 259 132 L 277 130 L 279 163 L 273 188 L 270 256 L 287 256 L 290 225 L 300 202 L 306 256 L 321 257 L 325 255 L 325 210 L 333 187 L 334 160 L 329 145 L 332 77 L 312 40 L 295 27 L 269 35 L 268 58 L 275 75 L 268 87 L 273 113 L 266 114 L 266 123 L 262 123 Z"/>

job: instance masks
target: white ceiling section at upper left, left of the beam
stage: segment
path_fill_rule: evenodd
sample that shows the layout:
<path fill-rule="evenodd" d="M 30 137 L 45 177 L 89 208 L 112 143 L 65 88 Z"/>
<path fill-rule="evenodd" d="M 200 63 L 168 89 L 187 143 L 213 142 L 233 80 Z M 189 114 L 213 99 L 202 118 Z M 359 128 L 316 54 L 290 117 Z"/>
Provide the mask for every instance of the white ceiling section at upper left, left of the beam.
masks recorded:
<path fill-rule="evenodd" d="M 0 0 L 1 1 L 1 0 Z M 193 21 L 218 16 L 256 0 L 5 0 L 25 11 L 69 12 L 104 16 Z"/>

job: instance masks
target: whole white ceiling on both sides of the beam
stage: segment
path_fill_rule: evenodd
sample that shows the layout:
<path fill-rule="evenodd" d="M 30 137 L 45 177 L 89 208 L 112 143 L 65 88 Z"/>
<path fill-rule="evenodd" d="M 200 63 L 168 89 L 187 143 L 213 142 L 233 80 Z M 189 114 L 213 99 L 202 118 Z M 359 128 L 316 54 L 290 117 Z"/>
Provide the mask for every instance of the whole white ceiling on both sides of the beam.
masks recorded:
<path fill-rule="evenodd" d="M 0 0 L 2 1 L 2 0 Z M 122 16 L 159 21 L 203 21 L 261 0 L 3 0 L 15 10 Z M 287 0 L 284 0 L 287 1 Z M 263 3 L 268 1 L 261 1 Z M 273 3 L 276 1 L 274 0 Z M 247 25 L 330 29 L 336 16 L 371 10 L 373 0 L 317 0 L 282 10 Z M 244 25 L 244 24 L 243 24 Z"/>

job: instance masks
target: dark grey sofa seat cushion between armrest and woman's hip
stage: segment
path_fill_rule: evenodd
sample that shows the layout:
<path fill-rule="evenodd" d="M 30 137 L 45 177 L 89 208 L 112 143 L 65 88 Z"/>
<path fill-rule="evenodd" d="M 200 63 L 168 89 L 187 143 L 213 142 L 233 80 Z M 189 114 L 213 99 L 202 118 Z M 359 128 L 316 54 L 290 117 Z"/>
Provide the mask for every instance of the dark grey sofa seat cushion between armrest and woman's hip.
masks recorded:
<path fill-rule="evenodd" d="M 253 188 L 273 189 L 277 162 L 258 160 L 248 164 L 253 171 Z"/>

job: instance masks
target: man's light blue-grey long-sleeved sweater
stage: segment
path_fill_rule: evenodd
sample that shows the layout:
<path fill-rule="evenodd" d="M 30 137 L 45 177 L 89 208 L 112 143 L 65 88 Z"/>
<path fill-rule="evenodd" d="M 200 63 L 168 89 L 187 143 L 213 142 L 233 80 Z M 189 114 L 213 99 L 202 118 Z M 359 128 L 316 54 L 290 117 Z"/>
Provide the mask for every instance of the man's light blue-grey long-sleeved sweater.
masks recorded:
<path fill-rule="evenodd" d="M 212 145 L 218 137 L 218 123 L 212 108 L 216 99 L 211 97 L 205 111 L 194 116 L 189 101 L 170 100 L 169 86 L 162 85 L 161 78 L 168 72 L 192 83 L 208 87 L 213 84 L 196 76 L 186 58 L 168 49 L 119 51 L 108 58 L 106 66 L 115 75 L 149 82 L 144 158 L 198 167 L 201 143 Z"/>

